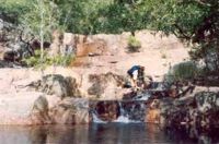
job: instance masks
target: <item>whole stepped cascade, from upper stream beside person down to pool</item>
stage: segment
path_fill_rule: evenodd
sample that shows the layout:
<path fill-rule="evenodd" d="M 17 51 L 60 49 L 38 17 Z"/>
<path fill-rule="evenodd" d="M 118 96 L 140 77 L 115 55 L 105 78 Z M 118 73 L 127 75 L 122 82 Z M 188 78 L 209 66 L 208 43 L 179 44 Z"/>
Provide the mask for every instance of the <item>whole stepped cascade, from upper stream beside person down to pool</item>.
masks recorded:
<path fill-rule="evenodd" d="M 164 83 L 152 82 L 148 89 L 124 95 L 123 100 L 93 101 L 93 122 L 146 122 L 148 104 L 153 99 L 166 97 L 166 87 Z"/>

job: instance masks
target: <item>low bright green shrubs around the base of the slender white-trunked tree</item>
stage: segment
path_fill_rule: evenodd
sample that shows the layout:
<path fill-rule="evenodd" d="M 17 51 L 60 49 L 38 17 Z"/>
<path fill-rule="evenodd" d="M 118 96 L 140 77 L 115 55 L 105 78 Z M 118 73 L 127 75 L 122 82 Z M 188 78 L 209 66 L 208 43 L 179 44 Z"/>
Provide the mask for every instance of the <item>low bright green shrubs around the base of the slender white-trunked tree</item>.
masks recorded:
<path fill-rule="evenodd" d="M 44 51 L 44 57 L 41 59 L 41 50 L 36 50 L 33 57 L 23 59 L 23 62 L 27 67 L 34 67 L 36 69 L 46 68 L 48 65 L 62 65 L 68 67 L 73 60 L 72 56 L 57 55 L 55 57 L 49 57 L 47 51 Z"/>

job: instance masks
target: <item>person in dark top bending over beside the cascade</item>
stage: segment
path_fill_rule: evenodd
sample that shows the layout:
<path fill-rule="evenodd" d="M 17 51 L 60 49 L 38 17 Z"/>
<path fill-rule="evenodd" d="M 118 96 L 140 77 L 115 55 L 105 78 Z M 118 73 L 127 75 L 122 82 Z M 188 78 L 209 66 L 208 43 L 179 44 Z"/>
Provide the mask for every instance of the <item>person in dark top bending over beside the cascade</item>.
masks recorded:
<path fill-rule="evenodd" d="M 128 75 L 130 76 L 131 80 L 131 86 L 135 88 L 143 87 L 145 85 L 145 80 L 143 80 L 143 74 L 145 74 L 145 67 L 142 65 L 134 65 L 127 71 Z"/>

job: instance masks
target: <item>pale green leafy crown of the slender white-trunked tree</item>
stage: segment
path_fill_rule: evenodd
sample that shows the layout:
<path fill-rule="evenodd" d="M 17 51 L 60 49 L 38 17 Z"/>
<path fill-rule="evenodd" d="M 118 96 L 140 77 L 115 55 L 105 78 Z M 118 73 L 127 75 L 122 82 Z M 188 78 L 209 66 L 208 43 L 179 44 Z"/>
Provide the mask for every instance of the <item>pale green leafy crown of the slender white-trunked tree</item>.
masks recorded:
<path fill-rule="evenodd" d="M 42 3 L 39 1 L 41 0 L 33 0 L 28 5 L 32 11 L 24 13 L 21 17 L 22 25 L 38 39 L 41 35 L 41 26 L 43 26 L 45 40 L 51 41 L 51 33 L 61 27 L 59 26 L 60 12 L 53 1 L 43 0 Z M 41 13 L 43 13 L 43 20 Z"/>

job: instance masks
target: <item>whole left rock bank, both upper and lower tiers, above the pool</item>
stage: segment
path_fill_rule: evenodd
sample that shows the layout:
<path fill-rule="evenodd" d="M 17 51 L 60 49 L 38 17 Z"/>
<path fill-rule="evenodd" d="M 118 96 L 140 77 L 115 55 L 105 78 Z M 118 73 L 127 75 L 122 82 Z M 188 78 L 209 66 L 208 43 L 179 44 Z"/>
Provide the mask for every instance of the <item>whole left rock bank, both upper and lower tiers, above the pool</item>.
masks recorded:
<path fill-rule="evenodd" d="M 57 68 L 58 69 L 58 68 Z M 79 97 L 73 73 L 3 69 L 0 73 L 0 124 L 77 124 L 89 122 L 89 101 Z M 34 76 L 33 76 L 34 75 Z M 71 75 L 71 76 L 70 76 Z"/>

